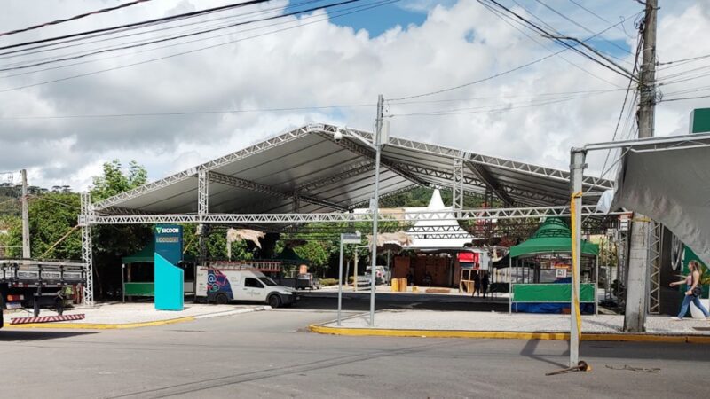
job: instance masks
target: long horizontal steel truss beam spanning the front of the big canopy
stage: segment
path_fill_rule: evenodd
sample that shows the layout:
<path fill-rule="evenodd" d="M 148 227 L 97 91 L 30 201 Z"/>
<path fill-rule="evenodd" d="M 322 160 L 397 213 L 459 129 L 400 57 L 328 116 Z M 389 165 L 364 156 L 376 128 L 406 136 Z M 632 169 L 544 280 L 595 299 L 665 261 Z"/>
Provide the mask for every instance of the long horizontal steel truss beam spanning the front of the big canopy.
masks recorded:
<path fill-rule="evenodd" d="M 606 214 L 596 206 L 581 207 L 581 215 L 626 215 L 626 212 Z M 416 222 L 420 220 L 490 220 L 525 219 L 550 216 L 569 216 L 569 207 L 517 207 L 469 209 L 461 211 L 388 212 L 383 221 Z M 354 223 L 370 222 L 370 213 L 319 213 L 319 214 L 175 214 L 175 215 L 81 215 L 89 224 L 140 224 L 140 223 Z"/>

